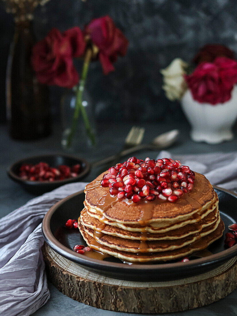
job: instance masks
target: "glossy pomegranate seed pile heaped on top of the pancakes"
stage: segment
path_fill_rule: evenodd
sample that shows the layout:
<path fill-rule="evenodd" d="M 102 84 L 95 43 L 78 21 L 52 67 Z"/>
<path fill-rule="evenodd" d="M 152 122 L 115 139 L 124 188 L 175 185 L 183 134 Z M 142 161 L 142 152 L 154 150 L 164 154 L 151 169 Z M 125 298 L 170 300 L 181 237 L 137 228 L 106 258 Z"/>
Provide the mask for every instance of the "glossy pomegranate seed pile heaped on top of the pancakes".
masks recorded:
<path fill-rule="evenodd" d="M 101 180 L 103 187 L 110 188 L 110 194 L 119 199 L 141 199 L 153 201 L 156 198 L 175 202 L 181 195 L 193 189 L 195 173 L 179 160 L 168 158 L 146 158 L 145 161 L 131 157 L 123 164 L 109 168 Z"/>

